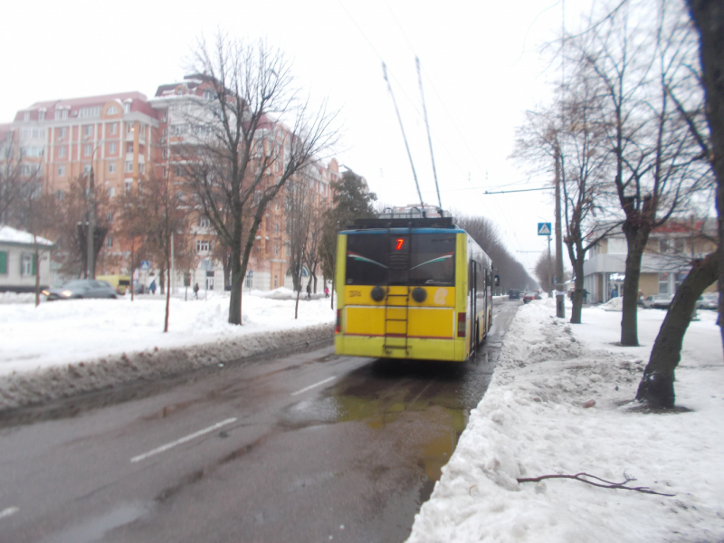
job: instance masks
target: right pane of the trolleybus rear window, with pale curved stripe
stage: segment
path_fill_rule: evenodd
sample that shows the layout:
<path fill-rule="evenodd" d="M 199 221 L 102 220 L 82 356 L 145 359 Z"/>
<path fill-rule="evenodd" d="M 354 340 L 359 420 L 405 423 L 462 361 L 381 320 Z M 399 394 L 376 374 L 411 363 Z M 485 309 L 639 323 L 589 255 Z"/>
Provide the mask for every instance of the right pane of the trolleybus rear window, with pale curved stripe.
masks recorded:
<path fill-rule="evenodd" d="M 421 233 L 412 236 L 410 284 L 455 284 L 454 233 Z"/>

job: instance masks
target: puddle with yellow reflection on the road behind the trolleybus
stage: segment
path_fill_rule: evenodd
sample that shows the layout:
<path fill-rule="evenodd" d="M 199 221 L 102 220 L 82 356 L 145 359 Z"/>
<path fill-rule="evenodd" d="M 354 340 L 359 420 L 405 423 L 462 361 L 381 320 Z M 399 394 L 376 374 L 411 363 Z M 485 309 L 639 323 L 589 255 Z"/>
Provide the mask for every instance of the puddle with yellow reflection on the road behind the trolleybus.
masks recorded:
<path fill-rule="evenodd" d="M 317 399 L 291 405 L 282 424 L 300 429 L 319 424 L 358 422 L 386 432 L 385 446 L 397 461 L 424 475 L 419 504 L 440 480 L 442 469 L 468 424 L 468 415 L 490 383 L 484 362 L 451 366 L 377 360 L 344 376 Z"/>

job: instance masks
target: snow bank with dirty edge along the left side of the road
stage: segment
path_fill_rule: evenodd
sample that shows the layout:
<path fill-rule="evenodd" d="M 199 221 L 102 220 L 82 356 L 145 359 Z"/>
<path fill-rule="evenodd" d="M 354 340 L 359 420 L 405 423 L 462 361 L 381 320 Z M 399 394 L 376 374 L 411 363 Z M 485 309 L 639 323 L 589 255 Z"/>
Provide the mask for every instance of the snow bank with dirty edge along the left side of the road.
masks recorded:
<path fill-rule="evenodd" d="M 203 296 L 203 294 L 202 294 Z M 0 409 L 178 374 L 333 337 L 329 300 L 243 297 L 243 327 L 228 294 L 206 300 L 64 300 L 0 305 Z"/>

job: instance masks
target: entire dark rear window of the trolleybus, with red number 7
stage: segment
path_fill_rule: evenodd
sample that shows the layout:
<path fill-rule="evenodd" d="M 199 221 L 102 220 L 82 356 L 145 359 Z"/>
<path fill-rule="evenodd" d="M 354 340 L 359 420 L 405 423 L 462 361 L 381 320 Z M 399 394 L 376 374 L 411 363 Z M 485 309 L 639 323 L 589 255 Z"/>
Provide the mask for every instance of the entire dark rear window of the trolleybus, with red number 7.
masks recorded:
<path fill-rule="evenodd" d="M 351 234 L 347 237 L 348 285 L 405 284 L 452 286 L 455 284 L 455 234 L 412 233 L 399 236 L 404 243 L 389 242 L 383 234 Z M 411 246 L 405 247 L 407 240 Z M 394 242 L 395 240 L 393 240 Z M 400 245 L 399 249 L 397 245 Z M 408 252 L 409 249 L 409 252 Z M 394 252 L 395 259 L 390 256 Z M 400 257 L 408 256 L 407 265 Z M 392 275 L 389 275 L 389 267 Z M 405 273 L 400 268 L 406 268 Z M 405 275 L 407 281 L 404 281 Z"/>

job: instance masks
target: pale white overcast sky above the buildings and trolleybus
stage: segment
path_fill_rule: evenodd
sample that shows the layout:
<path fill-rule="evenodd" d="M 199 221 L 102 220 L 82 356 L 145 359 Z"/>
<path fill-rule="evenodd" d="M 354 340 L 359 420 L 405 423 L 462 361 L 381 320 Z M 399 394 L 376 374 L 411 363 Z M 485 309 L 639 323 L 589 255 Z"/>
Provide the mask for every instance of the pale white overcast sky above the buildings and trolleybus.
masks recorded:
<path fill-rule="evenodd" d="M 380 201 L 418 202 L 412 169 L 383 79 L 386 62 L 424 200 L 436 204 L 414 57 L 443 207 L 482 214 L 528 268 L 547 247 L 547 192 L 484 195 L 542 186 L 509 156 L 525 110 L 549 99 L 558 76 L 540 46 L 575 27 L 588 1 L 317 0 L 41 1 L 3 9 L 0 122 L 40 100 L 138 90 L 180 81 L 202 34 L 264 38 L 293 60 L 301 89 L 341 110 L 341 164 L 365 176 Z"/>

